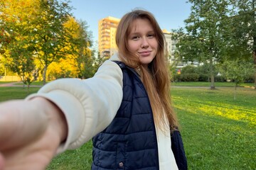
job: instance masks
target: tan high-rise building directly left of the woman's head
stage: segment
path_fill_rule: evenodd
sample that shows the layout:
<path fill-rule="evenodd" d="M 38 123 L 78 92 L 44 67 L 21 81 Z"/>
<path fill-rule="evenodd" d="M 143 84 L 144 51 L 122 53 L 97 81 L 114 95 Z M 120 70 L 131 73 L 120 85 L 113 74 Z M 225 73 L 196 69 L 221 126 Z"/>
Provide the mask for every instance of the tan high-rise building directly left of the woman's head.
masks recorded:
<path fill-rule="evenodd" d="M 117 52 L 117 45 L 115 43 L 115 34 L 119 18 L 108 16 L 99 21 L 99 52 L 101 57 L 110 57 Z"/>

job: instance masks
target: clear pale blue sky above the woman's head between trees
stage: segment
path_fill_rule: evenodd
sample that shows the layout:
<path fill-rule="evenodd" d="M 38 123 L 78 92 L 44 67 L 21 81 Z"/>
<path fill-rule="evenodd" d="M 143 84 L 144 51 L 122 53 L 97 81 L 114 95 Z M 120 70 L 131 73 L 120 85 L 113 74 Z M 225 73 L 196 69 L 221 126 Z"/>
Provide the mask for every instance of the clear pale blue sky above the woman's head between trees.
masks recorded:
<path fill-rule="evenodd" d="M 186 0 L 70 0 L 75 9 L 76 19 L 86 21 L 97 40 L 97 26 L 100 19 L 107 16 L 122 18 L 134 8 L 144 8 L 154 14 L 161 29 L 171 31 L 184 26 L 183 21 L 190 14 L 191 4 Z"/>

